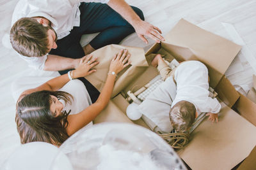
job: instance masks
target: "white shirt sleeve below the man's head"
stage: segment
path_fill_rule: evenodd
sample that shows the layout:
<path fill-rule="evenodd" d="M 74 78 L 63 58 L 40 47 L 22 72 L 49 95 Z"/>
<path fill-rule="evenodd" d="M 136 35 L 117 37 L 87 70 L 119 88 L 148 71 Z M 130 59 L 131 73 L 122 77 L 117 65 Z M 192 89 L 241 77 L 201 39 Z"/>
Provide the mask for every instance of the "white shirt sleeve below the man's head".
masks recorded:
<path fill-rule="evenodd" d="M 44 55 L 42 57 L 26 57 L 26 56 L 20 55 L 20 57 L 26 60 L 26 62 L 28 62 L 29 67 L 32 67 L 33 69 L 36 69 L 36 70 L 43 70 L 45 60 L 47 59 L 47 55 Z"/>

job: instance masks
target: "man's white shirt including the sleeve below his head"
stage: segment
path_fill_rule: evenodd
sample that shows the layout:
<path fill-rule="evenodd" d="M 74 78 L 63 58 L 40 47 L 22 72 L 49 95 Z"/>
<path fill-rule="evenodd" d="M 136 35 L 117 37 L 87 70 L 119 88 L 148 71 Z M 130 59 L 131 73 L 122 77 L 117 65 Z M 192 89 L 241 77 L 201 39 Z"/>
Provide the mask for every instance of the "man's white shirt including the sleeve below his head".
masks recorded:
<path fill-rule="evenodd" d="M 80 25 L 81 2 L 108 3 L 109 0 L 20 0 L 15 6 L 12 16 L 12 25 L 23 17 L 44 17 L 52 23 L 58 39 L 64 38 L 73 27 Z M 20 54 L 19 54 L 20 55 Z M 20 55 L 34 69 L 44 69 L 47 55 L 42 57 L 26 57 Z"/>

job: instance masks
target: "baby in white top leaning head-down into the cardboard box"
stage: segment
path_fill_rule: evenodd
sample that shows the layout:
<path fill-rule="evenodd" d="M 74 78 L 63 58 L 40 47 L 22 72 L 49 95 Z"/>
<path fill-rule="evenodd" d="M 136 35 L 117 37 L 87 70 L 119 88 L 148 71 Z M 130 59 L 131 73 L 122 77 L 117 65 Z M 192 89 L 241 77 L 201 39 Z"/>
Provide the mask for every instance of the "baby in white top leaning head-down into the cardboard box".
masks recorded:
<path fill-rule="evenodd" d="M 216 98 L 209 97 L 208 70 L 202 62 L 196 60 L 182 62 L 172 70 L 161 55 L 157 54 L 151 64 L 157 67 L 164 81 L 172 78 L 176 83 L 177 93 L 169 113 L 173 129 L 178 132 L 188 132 L 198 113 L 202 112 L 207 112 L 212 122 L 215 120 L 218 122 L 221 105 Z"/>

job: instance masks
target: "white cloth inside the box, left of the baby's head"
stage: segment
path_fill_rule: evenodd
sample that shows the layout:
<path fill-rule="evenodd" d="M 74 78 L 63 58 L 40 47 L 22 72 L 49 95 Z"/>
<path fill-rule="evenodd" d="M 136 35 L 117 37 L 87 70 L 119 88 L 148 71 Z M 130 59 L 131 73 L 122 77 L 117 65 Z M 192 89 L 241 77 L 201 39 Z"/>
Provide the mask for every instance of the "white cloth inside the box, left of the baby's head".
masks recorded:
<path fill-rule="evenodd" d="M 172 62 L 164 61 L 171 69 L 175 69 L 175 67 L 179 66 L 179 62 L 175 59 L 173 59 Z M 149 87 L 147 87 L 147 85 L 149 85 Z M 143 92 L 134 96 L 137 97 L 137 99 L 133 99 L 134 102 L 140 105 L 130 104 L 130 106 L 133 107 L 131 110 L 137 114 L 140 112 L 144 122 L 153 131 L 170 133 L 173 130 L 173 127 L 170 124 L 169 111 L 172 106 L 172 101 L 176 96 L 176 84 L 172 77 L 163 81 L 161 76 L 157 75 L 147 85 L 145 85 L 147 88 L 146 90 L 143 90 Z M 143 102 L 141 103 L 141 101 Z M 133 115 L 136 113 L 133 113 Z M 135 115 L 135 117 L 140 118 L 141 116 Z"/>

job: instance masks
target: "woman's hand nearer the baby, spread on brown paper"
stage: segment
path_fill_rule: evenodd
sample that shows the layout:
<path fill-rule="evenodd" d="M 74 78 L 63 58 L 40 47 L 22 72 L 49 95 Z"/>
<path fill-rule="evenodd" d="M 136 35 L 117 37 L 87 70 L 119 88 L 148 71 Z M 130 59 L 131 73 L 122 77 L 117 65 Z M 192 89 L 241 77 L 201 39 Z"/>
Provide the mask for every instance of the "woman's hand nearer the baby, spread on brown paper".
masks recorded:
<path fill-rule="evenodd" d="M 113 57 L 109 66 L 109 72 L 115 72 L 117 74 L 131 64 L 131 61 L 129 61 L 131 55 L 127 52 L 126 49 L 120 50 L 120 52 Z"/>

